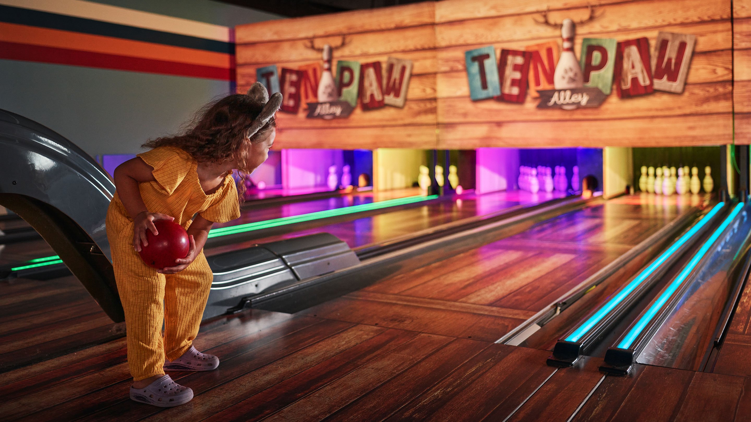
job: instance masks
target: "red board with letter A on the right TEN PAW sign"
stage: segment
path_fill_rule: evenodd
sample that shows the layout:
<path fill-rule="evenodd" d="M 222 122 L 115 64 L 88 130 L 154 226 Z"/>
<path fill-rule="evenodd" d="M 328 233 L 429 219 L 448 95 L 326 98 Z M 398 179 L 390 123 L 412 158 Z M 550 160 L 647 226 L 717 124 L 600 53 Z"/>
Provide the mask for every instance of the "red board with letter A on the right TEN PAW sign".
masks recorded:
<path fill-rule="evenodd" d="M 619 98 L 632 98 L 654 92 L 647 38 L 620 41 L 615 61 L 615 83 Z"/>

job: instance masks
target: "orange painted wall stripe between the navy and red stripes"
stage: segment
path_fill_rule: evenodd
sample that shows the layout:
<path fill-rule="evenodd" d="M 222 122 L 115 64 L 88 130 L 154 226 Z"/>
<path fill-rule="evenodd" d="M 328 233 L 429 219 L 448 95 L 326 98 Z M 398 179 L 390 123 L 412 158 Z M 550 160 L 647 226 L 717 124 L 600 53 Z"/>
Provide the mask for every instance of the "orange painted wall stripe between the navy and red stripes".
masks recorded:
<path fill-rule="evenodd" d="M 216 68 L 234 67 L 233 56 L 206 50 L 174 47 L 145 41 L 125 40 L 103 35 L 82 34 L 38 26 L 0 22 L 0 41 L 42 47 L 89 51 L 116 56 L 140 57 L 161 62 L 190 63 Z"/>

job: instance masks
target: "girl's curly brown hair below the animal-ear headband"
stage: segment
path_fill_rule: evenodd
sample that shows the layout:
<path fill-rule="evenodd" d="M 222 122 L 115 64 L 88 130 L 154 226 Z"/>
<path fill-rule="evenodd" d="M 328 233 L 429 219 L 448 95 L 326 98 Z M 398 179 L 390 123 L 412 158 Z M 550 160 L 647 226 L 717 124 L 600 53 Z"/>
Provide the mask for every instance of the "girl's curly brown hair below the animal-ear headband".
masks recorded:
<path fill-rule="evenodd" d="M 179 134 L 149 140 L 144 148 L 176 146 L 188 152 L 198 162 L 221 163 L 236 161 L 241 180 L 237 183 L 240 197 L 246 190 L 245 179 L 252 168 L 248 168 L 248 143 L 258 142 L 276 128 L 272 117 L 252 137 L 247 130 L 261 114 L 264 104 L 245 94 L 228 95 L 201 107 L 193 119 L 182 126 Z"/>

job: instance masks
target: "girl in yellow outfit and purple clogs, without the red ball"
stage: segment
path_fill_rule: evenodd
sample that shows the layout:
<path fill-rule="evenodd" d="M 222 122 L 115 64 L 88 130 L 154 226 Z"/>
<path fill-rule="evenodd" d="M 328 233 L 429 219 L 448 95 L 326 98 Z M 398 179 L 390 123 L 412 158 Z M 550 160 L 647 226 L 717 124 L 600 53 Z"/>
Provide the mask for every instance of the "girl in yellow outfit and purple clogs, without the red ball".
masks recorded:
<path fill-rule="evenodd" d="M 249 174 L 266 160 L 281 104 L 281 94 L 269 98 L 264 86 L 254 83 L 247 95 L 207 105 L 183 134 L 145 143 L 149 152 L 116 168 L 107 238 L 125 310 L 131 399 L 181 405 L 193 391 L 164 370 L 207 371 L 219 365 L 216 356 L 192 345 L 213 279 L 203 248 L 214 222 L 240 217 L 232 170 Z M 159 219 L 182 225 L 191 245 L 188 256 L 164 270 L 146 266 L 138 255 L 148 244 L 146 231 L 158 234 L 153 222 Z"/>

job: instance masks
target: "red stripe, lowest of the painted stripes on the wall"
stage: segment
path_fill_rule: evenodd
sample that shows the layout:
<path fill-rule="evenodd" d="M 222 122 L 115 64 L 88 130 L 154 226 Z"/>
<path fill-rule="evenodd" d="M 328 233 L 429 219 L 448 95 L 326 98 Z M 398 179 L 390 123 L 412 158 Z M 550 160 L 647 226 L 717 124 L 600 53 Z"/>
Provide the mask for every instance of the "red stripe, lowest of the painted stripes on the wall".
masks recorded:
<path fill-rule="evenodd" d="M 0 41 L 0 59 L 201 77 L 216 80 L 234 80 L 234 68 L 216 68 L 188 63 L 164 62 L 161 60 L 42 47 L 32 44 L 9 43 L 5 41 Z"/>

